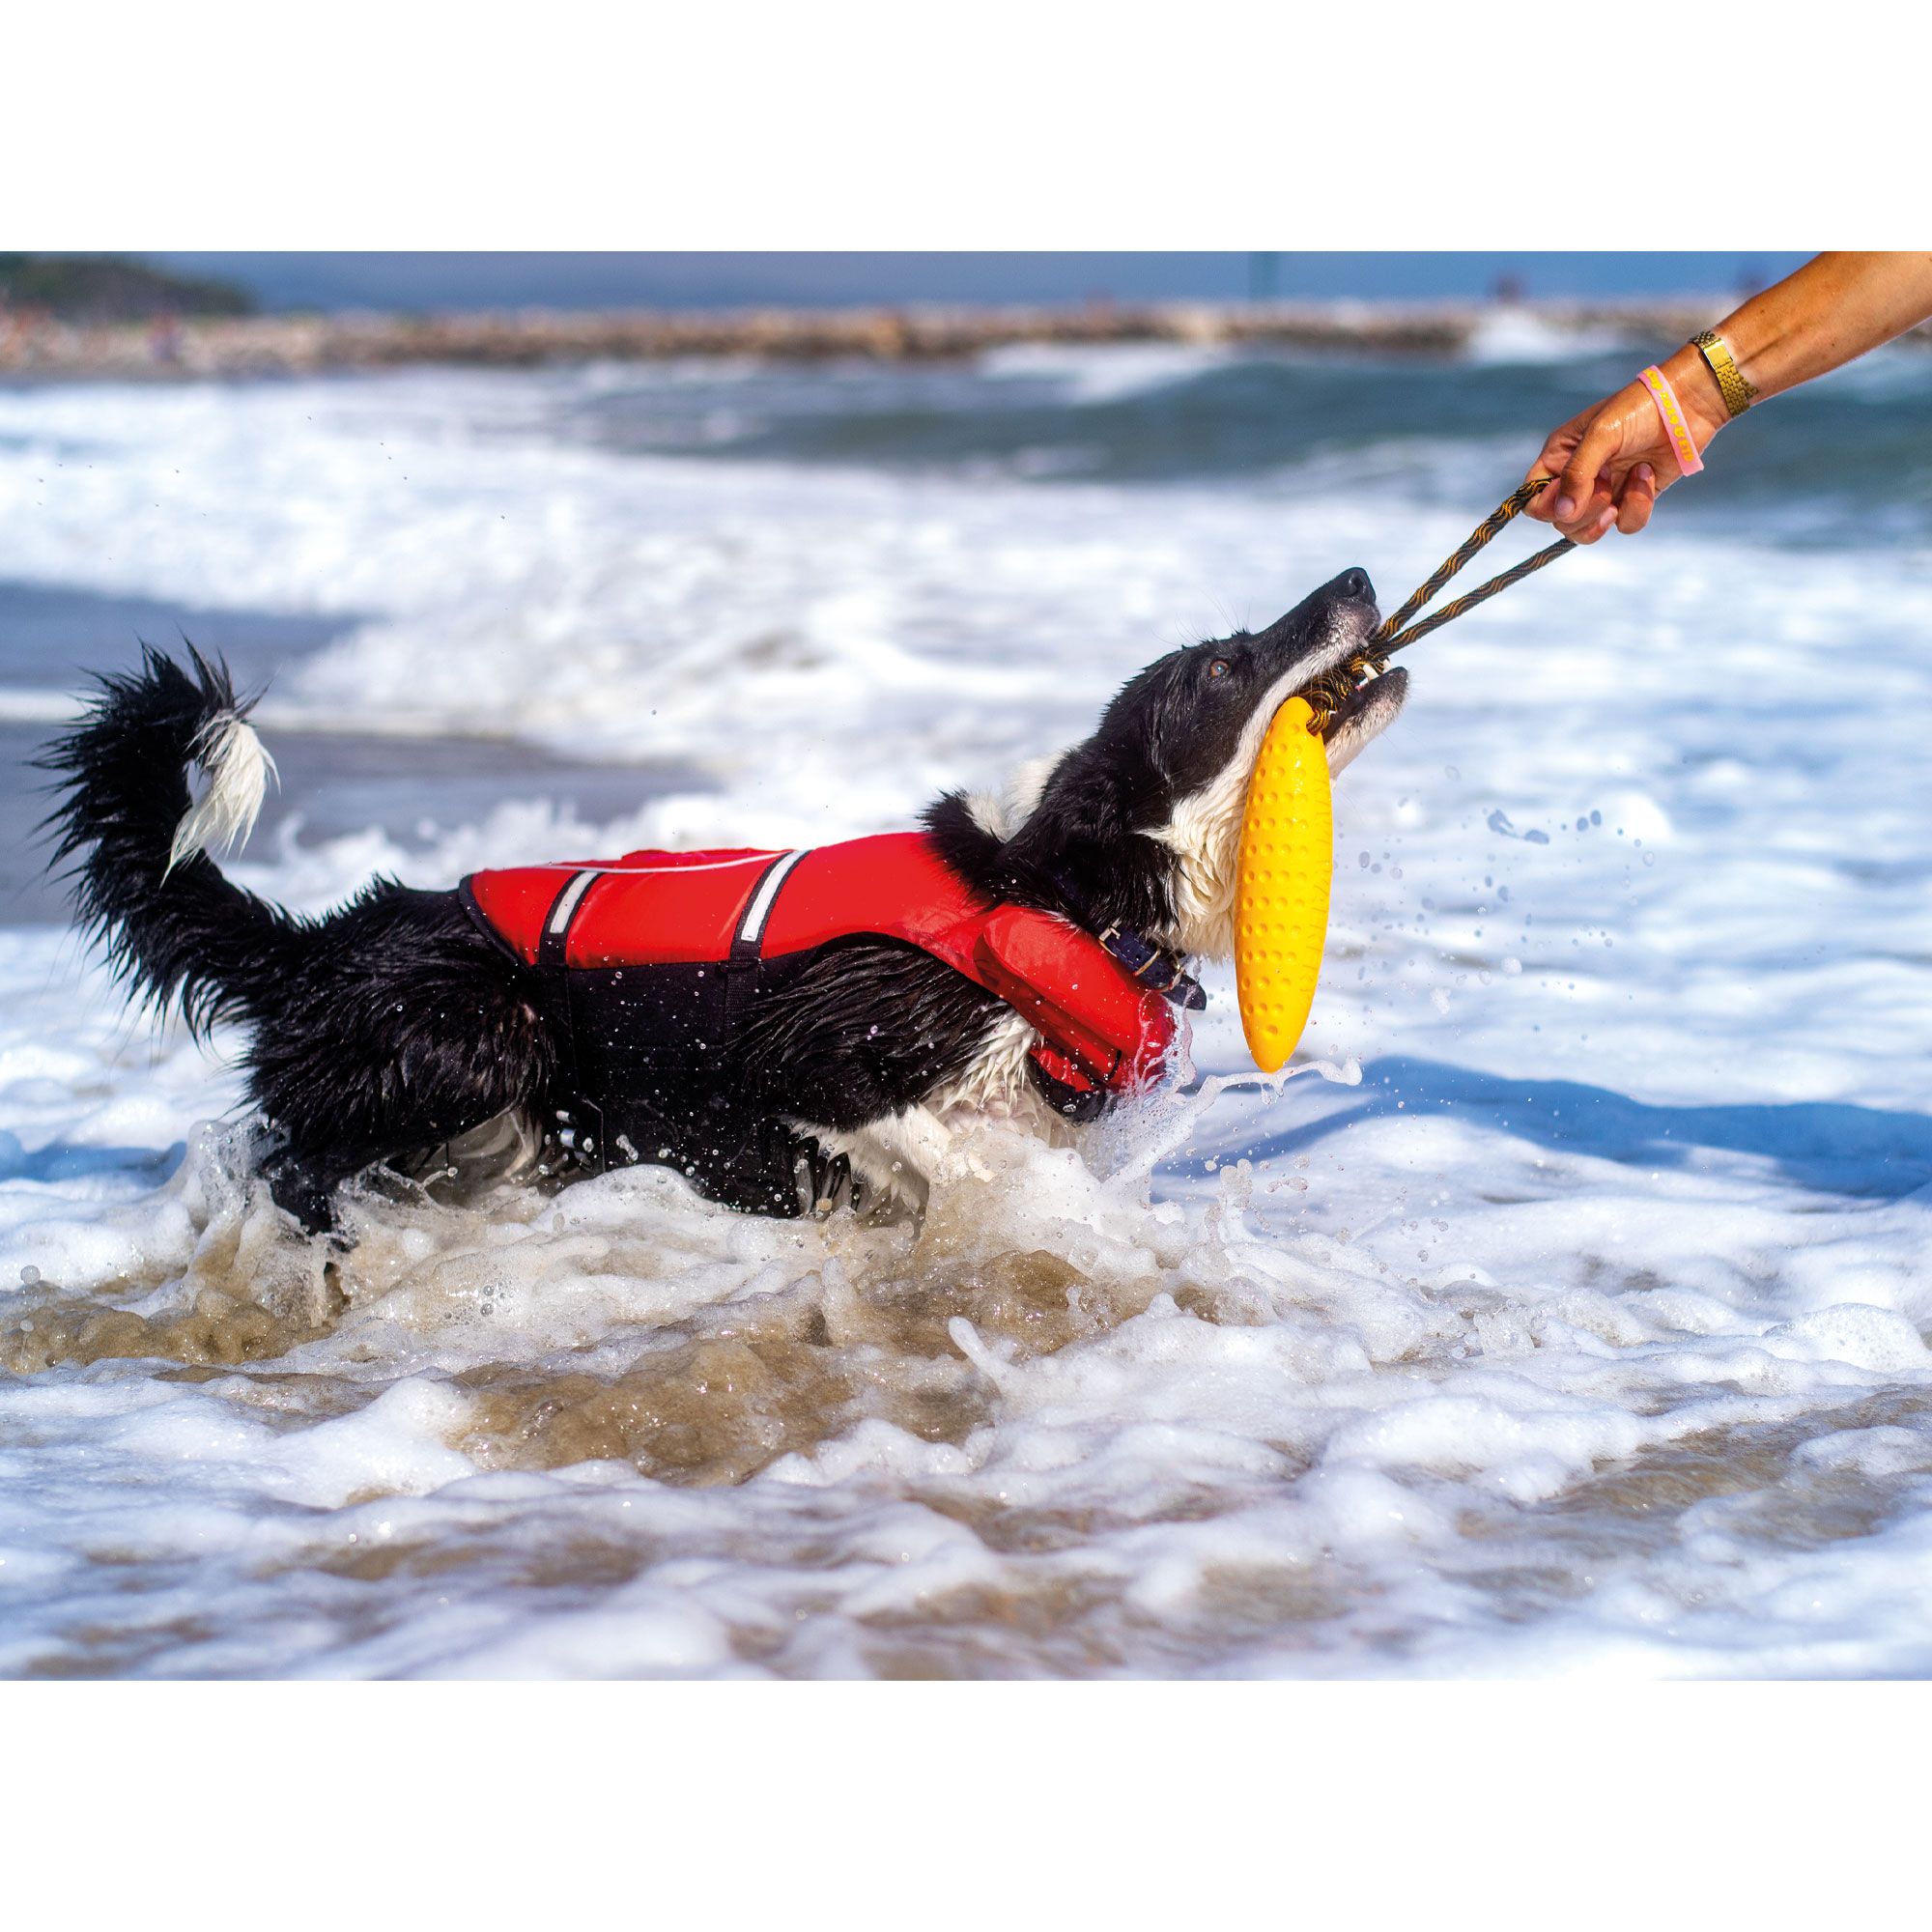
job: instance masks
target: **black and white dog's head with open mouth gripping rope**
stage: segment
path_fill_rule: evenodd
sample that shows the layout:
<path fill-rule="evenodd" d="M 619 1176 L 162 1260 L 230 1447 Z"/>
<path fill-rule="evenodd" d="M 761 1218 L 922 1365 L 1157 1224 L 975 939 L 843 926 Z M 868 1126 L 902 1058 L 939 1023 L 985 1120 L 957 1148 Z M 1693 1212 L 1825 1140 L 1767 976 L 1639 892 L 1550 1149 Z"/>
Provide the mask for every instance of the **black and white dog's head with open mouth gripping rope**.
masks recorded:
<path fill-rule="evenodd" d="M 1368 572 L 1345 570 L 1267 630 L 1169 651 L 1128 680 L 1084 744 L 999 796 L 943 800 L 929 823 L 995 891 L 1227 958 L 1242 810 L 1267 726 L 1289 697 L 1358 657 L 1378 622 Z M 1393 723 L 1406 692 L 1401 670 L 1349 692 L 1323 730 L 1331 773 Z"/>

